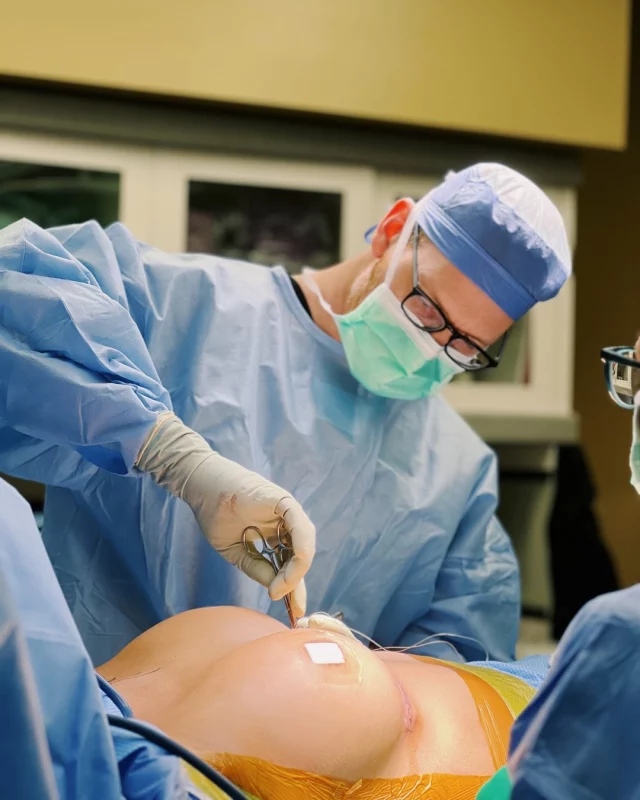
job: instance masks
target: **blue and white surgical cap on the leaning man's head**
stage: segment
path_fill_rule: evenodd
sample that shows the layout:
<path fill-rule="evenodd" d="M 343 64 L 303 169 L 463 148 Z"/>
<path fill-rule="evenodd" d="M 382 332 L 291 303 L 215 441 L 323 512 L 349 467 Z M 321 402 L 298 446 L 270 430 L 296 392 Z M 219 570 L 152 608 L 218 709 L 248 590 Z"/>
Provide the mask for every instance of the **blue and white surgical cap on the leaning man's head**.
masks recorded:
<path fill-rule="evenodd" d="M 418 224 L 429 239 L 511 319 L 554 297 L 571 274 L 560 212 L 509 167 L 451 174 L 423 202 Z"/>

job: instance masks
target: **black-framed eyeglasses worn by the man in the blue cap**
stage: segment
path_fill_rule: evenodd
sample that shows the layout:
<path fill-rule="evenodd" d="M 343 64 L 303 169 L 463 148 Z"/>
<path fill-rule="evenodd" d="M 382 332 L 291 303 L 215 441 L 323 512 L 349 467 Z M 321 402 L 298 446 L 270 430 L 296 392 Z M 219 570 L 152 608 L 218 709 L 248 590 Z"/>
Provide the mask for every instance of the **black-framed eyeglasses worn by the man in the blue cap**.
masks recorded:
<path fill-rule="evenodd" d="M 439 333 L 447 330 L 451 333 L 449 341 L 444 346 L 445 353 L 458 366 L 467 372 L 477 372 L 481 369 L 497 367 L 502 358 L 508 333 L 502 337 L 497 347 L 497 353 L 492 356 L 483 350 L 464 333 L 460 333 L 449 322 L 444 311 L 438 306 L 435 300 L 420 288 L 418 279 L 418 237 L 420 229 L 416 225 L 413 231 L 413 291 L 402 301 L 402 310 L 405 315 L 417 328 L 426 333 Z"/>

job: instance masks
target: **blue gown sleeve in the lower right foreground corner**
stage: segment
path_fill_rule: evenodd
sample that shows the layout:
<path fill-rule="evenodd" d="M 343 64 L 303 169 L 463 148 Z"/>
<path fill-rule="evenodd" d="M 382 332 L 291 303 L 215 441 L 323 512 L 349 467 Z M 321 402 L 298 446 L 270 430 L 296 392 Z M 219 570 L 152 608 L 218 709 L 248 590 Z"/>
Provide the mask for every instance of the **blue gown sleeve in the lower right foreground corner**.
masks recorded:
<path fill-rule="evenodd" d="M 588 603 L 516 720 L 511 800 L 640 798 L 640 586 Z"/>

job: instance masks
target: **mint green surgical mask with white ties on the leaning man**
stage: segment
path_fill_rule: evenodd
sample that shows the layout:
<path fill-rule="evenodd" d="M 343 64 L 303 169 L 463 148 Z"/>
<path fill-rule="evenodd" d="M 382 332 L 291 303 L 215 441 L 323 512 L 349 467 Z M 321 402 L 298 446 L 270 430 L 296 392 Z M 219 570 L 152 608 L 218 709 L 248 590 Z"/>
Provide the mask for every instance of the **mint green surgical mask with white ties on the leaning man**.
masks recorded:
<path fill-rule="evenodd" d="M 420 208 L 421 203 L 416 204 L 402 229 L 384 283 L 353 311 L 336 314 L 310 278 L 311 270 L 303 272 L 305 282 L 336 323 L 354 378 L 370 392 L 396 400 L 418 400 L 434 394 L 463 371 L 442 345 L 407 319 L 391 291 Z"/>

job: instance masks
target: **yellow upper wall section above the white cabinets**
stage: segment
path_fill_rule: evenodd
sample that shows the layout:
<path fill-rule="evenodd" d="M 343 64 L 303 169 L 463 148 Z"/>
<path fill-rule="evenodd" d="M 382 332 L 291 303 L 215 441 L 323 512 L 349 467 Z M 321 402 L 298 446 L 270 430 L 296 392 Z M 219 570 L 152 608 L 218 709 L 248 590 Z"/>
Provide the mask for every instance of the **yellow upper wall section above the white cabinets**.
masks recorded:
<path fill-rule="evenodd" d="M 601 147 L 630 0 L 23 0 L 0 75 Z"/>

